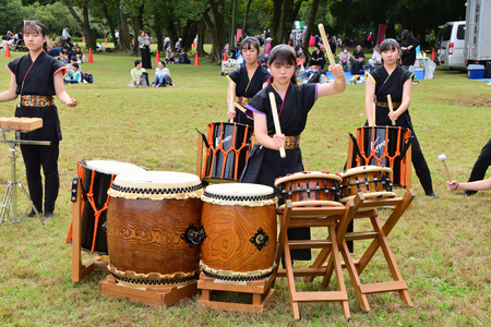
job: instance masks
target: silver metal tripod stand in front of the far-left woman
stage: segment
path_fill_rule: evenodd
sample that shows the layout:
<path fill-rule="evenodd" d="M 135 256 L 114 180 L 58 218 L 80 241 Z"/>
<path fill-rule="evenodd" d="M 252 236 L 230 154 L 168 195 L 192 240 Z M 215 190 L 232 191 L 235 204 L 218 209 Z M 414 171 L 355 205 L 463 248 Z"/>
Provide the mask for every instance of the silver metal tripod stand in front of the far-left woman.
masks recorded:
<path fill-rule="evenodd" d="M 29 209 L 33 209 L 36 213 L 36 216 L 39 217 L 43 225 L 45 225 L 45 220 L 40 213 L 37 210 L 36 206 L 34 205 L 33 201 L 31 199 L 27 191 L 25 190 L 24 185 L 20 181 L 17 181 L 17 174 L 16 174 L 16 159 L 17 156 L 17 149 L 16 147 L 21 144 L 26 145 L 50 145 L 50 142 L 47 141 L 27 141 L 27 140 L 21 140 L 21 132 L 14 131 L 14 130 L 0 130 L 1 131 L 1 138 L 0 143 L 9 143 L 9 158 L 10 158 L 10 167 L 11 167 L 11 179 L 10 181 L 7 181 L 7 190 L 5 190 L 5 196 L 2 201 L 2 206 L 0 208 L 0 223 L 5 222 L 8 217 L 11 218 L 12 223 L 19 223 L 22 222 L 22 219 L 27 217 Z M 12 131 L 15 132 L 15 140 L 8 140 L 5 137 L 5 132 Z M 20 218 L 17 213 L 17 205 L 19 205 L 19 197 L 17 197 L 17 186 L 21 189 L 21 191 L 24 193 L 24 195 L 27 197 L 29 204 L 27 208 L 24 211 L 24 215 Z"/>

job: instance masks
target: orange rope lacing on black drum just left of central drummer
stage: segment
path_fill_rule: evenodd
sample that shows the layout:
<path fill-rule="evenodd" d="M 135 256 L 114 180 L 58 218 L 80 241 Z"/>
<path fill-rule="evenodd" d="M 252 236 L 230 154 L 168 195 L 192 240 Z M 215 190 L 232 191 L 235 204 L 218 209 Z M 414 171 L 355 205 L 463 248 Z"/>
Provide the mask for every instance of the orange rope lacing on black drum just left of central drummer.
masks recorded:
<path fill-rule="evenodd" d="M 231 140 L 231 144 L 233 146 L 236 144 L 236 126 L 237 125 L 233 124 L 233 133 L 232 133 L 232 140 Z M 206 157 L 207 158 L 209 157 L 209 153 L 213 153 L 213 157 L 215 157 L 218 152 L 221 152 L 221 153 L 224 153 L 224 162 L 227 162 L 228 155 L 230 154 L 230 152 L 233 150 L 236 153 L 236 160 L 233 162 L 233 179 L 238 180 L 238 178 L 240 178 L 240 177 L 237 177 L 237 172 L 238 172 L 238 169 L 239 169 L 239 155 L 240 155 L 240 152 L 244 147 L 249 147 L 250 146 L 250 144 L 248 143 L 249 125 L 246 125 L 246 132 L 243 134 L 243 140 L 242 140 L 241 146 L 238 149 L 235 149 L 233 146 L 230 146 L 230 148 L 228 150 L 224 150 L 224 144 L 223 144 L 223 138 L 221 138 L 221 136 L 223 136 L 221 132 L 225 132 L 224 123 L 220 122 L 220 137 L 218 140 L 218 146 L 216 148 L 215 148 L 215 142 L 213 140 L 214 129 L 215 129 L 215 124 L 209 124 L 208 125 L 206 138 L 207 138 L 207 143 L 209 144 L 209 147 L 206 148 Z M 248 150 L 246 153 L 246 157 L 247 158 L 249 158 L 249 153 L 250 153 L 250 148 L 248 148 Z M 215 165 L 215 160 L 212 160 L 212 167 L 209 168 L 209 175 L 208 175 L 208 178 L 212 178 L 214 165 Z M 224 167 L 221 167 L 221 179 L 224 178 L 224 174 L 225 174 L 225 168 L 226 168 L 226 165 L 224 165 Z M 206 165 L 203 165 L 203 177 L 206 177 Z"/>

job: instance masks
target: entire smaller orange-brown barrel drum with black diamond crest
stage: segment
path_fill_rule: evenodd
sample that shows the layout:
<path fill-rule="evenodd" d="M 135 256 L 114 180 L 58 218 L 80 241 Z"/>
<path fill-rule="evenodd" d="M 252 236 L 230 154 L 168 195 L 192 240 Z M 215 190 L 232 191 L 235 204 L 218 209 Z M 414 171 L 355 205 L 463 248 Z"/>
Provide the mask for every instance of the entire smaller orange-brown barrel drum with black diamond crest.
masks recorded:
<path fill-rule="evenodd" d="M 227 281 L 268 278 L 275 268 L 277 232 L 273 187 L 215 184 L 201 198 L 203 274 Z"/>

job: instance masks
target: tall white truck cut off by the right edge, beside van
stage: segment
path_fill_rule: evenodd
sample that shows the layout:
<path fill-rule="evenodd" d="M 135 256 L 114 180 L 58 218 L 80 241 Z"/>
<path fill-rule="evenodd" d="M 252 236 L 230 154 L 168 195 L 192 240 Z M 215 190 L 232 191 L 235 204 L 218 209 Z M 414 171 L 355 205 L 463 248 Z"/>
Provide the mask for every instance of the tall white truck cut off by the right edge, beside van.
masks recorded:
<path fill-rule="evenodd" d="M 491 62 L 491 0 L 467 0 L 464 58 L 467 64 Z"/>

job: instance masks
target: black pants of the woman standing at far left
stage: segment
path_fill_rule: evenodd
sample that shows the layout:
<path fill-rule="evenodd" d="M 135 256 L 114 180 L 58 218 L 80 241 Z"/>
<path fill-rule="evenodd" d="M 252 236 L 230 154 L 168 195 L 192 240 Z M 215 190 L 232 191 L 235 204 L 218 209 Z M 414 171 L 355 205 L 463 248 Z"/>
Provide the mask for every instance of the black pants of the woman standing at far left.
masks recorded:
<path fill-rule="evenodd" d="M 58 173 L 59 141 L 51 141 L 51 145 L 21 145 L 24 158 L 27 186 L 31 199 L 36 208 L 43 209 L 43 179 L 40 168 L 45 174 L 45 213 L 55 210 L 55 203 L 60 189 Z"/>

